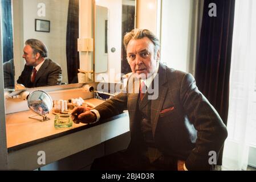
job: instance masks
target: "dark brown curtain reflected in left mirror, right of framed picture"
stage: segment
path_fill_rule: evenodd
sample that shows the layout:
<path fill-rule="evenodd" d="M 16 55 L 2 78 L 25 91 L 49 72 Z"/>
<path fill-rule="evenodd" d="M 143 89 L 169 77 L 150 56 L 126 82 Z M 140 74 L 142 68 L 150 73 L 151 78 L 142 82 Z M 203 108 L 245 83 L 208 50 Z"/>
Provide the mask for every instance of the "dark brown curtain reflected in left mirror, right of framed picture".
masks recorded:
<path fill-rule="evenodd" d="M 79 0 L 70 0 L 68 4 L 68 20 L 67 20 L 67 73 L 68 84 L 78 82 L 79 52 Z"/>

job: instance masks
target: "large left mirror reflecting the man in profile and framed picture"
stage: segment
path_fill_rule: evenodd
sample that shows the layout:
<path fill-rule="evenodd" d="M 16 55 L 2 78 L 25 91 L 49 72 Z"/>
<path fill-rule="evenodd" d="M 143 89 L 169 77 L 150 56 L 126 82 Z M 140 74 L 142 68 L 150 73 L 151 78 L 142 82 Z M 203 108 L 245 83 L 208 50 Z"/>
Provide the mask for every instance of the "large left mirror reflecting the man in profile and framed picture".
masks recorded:
<path fill-rule="evenodd" d="M 52 60 L 45 59 L 36 72 L 36 76 L 44 77 L 39 79 L 41 84 L 30 87 L 78 83 L 79 70 L 85 70 L 80 67 L 78 52 L 79 10 L 83 8 L 84 12 L 88 12 L 86 8 L 92 9 L 93 19 L 94 3 L 91 3 L 91 7 L 79 7 L 81 4 L 79 0 L 1 0 L 0 2 L 5 88 L 14 88 L 22 72 L 30 75 L 25 80 L 32 81 L 34 72 L 25 64 L 33 61 L 31 59 L 35 56 L 30 57 L 29 49 L 23 52 L 27 39 L 38 39 L 45 44 L 48 50 L 46 58 Z M 92 59 L 89 61 L 93 62 Z M 56 70 L 56 65 L 61 72 Z M 57 81 L 54 80 L 56 76 Z M 93 76 L 90 78 L 86 80 L 93 81 Z M 38 81 L 38 78 L 35 78 L 35 81 Z"/>

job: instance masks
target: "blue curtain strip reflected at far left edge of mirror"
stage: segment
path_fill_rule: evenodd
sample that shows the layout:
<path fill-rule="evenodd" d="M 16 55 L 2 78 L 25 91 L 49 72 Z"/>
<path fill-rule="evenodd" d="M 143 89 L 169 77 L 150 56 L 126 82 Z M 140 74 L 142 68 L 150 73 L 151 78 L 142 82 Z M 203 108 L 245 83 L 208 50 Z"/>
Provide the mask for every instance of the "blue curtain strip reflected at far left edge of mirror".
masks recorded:
<path fill-rule="evenodd" d="M 13 22 L 11 0 L 1 0 L 3 63 L 13 59 Z"/>

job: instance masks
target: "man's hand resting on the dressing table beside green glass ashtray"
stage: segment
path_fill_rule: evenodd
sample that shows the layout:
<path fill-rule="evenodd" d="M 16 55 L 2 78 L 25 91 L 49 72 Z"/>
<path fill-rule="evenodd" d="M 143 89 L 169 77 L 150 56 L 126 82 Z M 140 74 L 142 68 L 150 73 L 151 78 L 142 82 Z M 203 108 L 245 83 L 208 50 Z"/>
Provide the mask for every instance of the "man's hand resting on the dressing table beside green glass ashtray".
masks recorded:
<path fill-rule="evenodd" d="M 92 123 L 97 120 L 96 114 L 86 106 L 75 107 L 71 114 L 74 123 Z"/>

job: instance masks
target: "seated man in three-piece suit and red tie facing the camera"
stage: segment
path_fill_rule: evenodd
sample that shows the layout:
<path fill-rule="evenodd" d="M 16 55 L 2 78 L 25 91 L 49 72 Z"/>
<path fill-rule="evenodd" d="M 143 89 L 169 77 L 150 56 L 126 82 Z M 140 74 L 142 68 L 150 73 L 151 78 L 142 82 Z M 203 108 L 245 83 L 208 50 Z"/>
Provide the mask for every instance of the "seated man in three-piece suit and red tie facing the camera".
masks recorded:
<path fill-rule="evenodd" d="M 124 46 L 133 73 L 124 92 L 93 110 L 77 107 L 72 111 L 75 121 L 83 123 L 100 122 L 123 110 L 129 113 L 127 150 L 95 159 L 91 169 L 213 169 L 209 152 L 218 154 L 227 130 L 193 76 L 160 63 L 160 42 L 151 31 L 129 32 Z M 157 97 L 149 97 L 150 88 Z"/>

